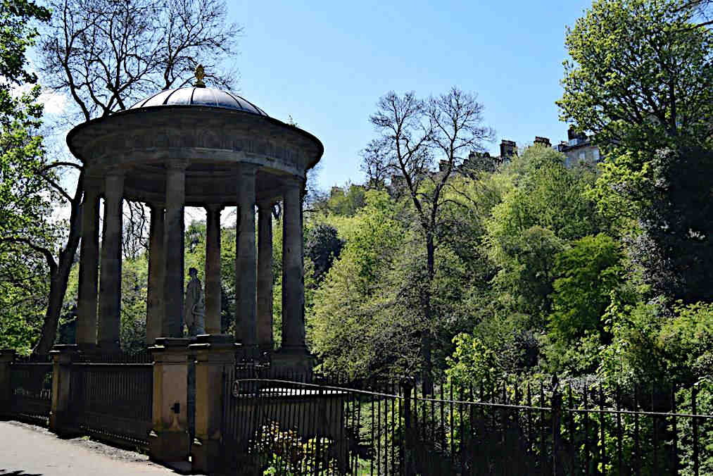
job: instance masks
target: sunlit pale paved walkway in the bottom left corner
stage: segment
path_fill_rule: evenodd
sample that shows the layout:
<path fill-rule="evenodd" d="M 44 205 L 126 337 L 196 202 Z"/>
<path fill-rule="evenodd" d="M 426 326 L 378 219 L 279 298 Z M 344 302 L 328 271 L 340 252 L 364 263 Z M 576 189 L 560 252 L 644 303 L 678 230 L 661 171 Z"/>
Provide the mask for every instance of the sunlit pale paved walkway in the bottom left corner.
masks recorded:
<path fill-rule="evenodd" d="M 83 438 L 62 440 L 41 427 L 0 422 L 0 476 L 175 474 L 140 453 Z"/>

